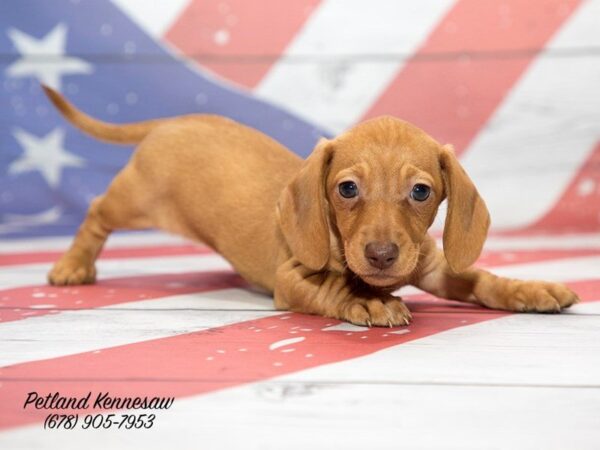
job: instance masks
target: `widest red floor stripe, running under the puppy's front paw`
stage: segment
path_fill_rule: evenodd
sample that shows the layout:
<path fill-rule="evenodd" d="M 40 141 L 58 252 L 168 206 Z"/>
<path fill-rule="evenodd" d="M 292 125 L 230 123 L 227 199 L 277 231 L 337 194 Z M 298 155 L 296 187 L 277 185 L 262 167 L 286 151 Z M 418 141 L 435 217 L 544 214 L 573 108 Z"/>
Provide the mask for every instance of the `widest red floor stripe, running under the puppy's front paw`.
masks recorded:
<path fill-rule="evenodd" d="M 594 297 L 587 299 L 597 300 L 600 280 L 571 286 L 586 295 L 593 293 Z M 42 395 L 60 392 L 75 397 L 89 391 L 94 395 L 110 392 L 115 397 L 199 395 L 369 355 L 503 315 L 486 311 L 480 314 L 417 312 L 408 332 L 393 334 L 397 329 L 373 328 L 361 333 L 324 331 L 338 322 L 287 313 L 107 348 L 100 353 L 86 352 L 8 366 L 0 372 L 0 428 L 43 420 L 49 411 L 23 409 L 24 400 L 32 391 Z M 270 350 L 272 344 L 290 338 L 304 339 Z M 289 349 L 293 351 L 284 351 Z"/>

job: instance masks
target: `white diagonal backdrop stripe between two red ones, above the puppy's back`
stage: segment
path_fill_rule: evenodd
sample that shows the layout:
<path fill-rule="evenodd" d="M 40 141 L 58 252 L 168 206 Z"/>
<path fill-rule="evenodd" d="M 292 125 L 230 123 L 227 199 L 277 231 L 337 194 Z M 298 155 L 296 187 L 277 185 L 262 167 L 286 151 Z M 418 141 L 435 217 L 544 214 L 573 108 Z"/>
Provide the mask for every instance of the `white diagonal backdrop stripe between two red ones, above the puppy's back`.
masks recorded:
<path fill-rule="evenodd" d="M 454 0 L 326 0 L 255 89 L 260 97 L 338 133 L 355 123 L 403 67 Z M 409 18 L 409 20 L 402 20 Z M 306 55 L 319 60 L 295 63 Z"/>

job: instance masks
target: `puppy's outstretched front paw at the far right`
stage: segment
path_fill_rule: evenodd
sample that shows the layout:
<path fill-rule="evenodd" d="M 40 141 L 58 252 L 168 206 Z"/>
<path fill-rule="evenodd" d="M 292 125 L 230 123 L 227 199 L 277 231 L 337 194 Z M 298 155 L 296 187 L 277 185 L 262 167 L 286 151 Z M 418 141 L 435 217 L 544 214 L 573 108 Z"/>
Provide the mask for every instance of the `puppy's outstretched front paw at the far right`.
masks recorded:
<path fill-rule="evenodd" d="M 544 281 L 515 281 L 507 308 L 511 311 L 560 312 L 579 297 L 564 284 Z"/>

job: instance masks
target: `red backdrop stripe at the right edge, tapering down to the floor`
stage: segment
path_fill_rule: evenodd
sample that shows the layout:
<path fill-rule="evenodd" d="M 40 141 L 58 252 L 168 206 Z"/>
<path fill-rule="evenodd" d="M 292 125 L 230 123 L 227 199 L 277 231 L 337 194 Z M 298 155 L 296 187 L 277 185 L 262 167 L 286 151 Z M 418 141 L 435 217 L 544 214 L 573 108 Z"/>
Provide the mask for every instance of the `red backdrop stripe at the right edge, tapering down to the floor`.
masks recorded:
<path fill-rule="evenodd" d="M 540 231 L 600 231 L 600 144 L 544 217 L 518 234 Z M 507 234 L 517 234 L 516 232 Z"/>

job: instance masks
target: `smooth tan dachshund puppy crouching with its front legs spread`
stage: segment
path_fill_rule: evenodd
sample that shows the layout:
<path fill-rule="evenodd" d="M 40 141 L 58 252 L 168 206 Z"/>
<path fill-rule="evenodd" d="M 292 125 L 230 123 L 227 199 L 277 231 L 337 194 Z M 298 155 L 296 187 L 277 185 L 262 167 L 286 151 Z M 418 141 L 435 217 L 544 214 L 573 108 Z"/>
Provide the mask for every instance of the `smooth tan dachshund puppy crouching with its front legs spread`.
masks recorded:
<path fill-rule="evenodd" d="M 202 241 L 275 306 L 358 325 L 406 325 L 391 293 L 434 295 L 508 311 L 557 312 L 566 286 L 472 268 L 490 224 L 485 203 L 450 146 L 392 117 L 322 139 L 303 161 L 268 136 L 211 115 L 127 125 L 95 120 L 50 88 L 72 124 L 105 141 L 138 144 L 96 198 L 51 284 L 93 283 L 117 229 L 160 228 Z M 427 233 L 447 199 L 443 253 Z"/>

